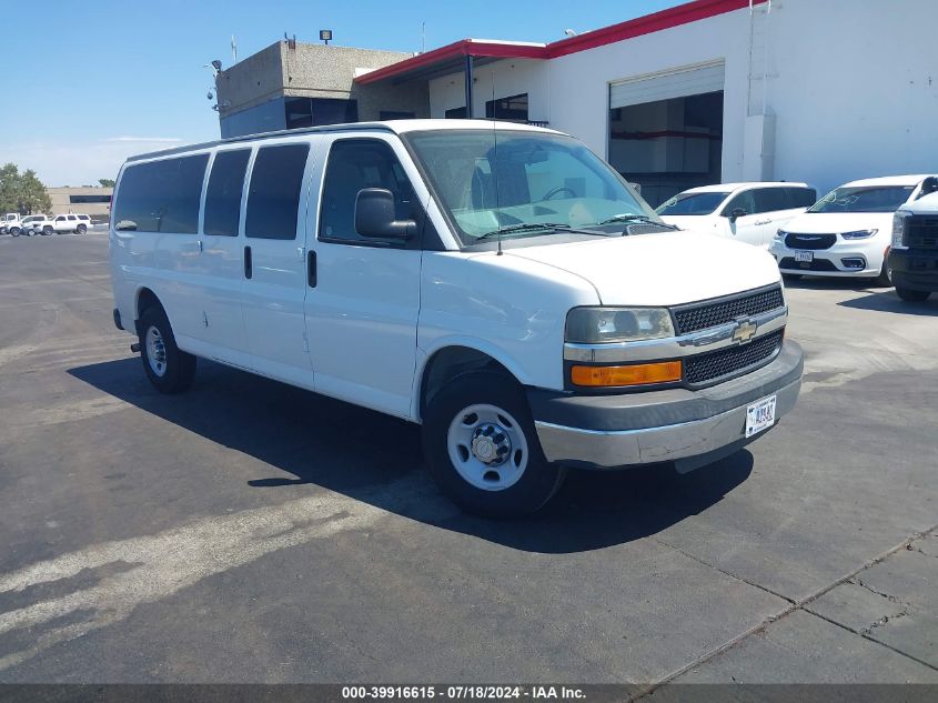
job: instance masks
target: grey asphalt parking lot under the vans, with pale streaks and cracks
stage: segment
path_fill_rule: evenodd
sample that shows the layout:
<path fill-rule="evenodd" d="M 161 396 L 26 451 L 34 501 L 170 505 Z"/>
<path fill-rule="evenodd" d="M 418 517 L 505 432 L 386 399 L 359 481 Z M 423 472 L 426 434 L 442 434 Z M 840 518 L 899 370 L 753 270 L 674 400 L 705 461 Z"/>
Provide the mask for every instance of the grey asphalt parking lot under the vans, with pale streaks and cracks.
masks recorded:
<path fill-rule="evenodd" d="M 777 429 L 491 522 L 397 420 L 157 393 L 105 259 L 0 238 L 0 681 L 938 682 L 938 297 L 794 283 Z"/>

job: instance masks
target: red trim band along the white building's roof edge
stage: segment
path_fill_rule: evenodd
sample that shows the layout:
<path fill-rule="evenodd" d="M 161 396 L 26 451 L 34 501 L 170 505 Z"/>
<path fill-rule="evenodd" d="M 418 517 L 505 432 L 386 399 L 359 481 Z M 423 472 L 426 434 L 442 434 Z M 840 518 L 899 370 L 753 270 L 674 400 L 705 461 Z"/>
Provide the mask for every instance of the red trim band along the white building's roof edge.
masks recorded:
<path fill-rule="evenodd" d="M 763 4 L 767 0 L 752 0 L 753 4 Z M 562 39 L 547 46 L 518 44 L 511 42 L 478 41 L 474 39 L 462 39 L 440 47 L 426 53 L 421 53 L 412 59 L 404 59 L 382 69 L 364 73 L 355 79 L 356 83 L 373 83 L 399 76 L 406 71 L 413 71 L 423 67 L 431 67 L 435 63 L 452 60 L 457 57 L 498 57 L 505 59 L 555 59 L 565 57 L 578 51 L 595 49 L 606 44 L 616 43 L 626 39 L 642 37 L 659 32 L 665 29 L 673 29 L 683 24 L 689 24 L 698 20 L 705 20 L 726 12 L 742 10 L 749 7 L 749 0 L 692 0 L 660 12 L 646 14 L 633 20 L 619 22 L 611 27 L 604 27 L 592 32 L 585 32 Z"/>

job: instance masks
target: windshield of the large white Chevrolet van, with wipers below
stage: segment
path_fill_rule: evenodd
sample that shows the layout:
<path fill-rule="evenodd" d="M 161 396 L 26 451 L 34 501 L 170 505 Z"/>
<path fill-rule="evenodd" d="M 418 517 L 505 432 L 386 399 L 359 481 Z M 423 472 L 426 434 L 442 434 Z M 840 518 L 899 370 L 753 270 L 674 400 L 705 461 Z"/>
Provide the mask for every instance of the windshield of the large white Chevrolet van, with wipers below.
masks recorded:
<path fill-rule="evenodd" d="M 629 222 L 670 229 L 575 139 L 516 130 L 404 134 L 464 247 L 571 235 L 618 237 Z M 652 229 L 656 229 L 653 227 Z"/>

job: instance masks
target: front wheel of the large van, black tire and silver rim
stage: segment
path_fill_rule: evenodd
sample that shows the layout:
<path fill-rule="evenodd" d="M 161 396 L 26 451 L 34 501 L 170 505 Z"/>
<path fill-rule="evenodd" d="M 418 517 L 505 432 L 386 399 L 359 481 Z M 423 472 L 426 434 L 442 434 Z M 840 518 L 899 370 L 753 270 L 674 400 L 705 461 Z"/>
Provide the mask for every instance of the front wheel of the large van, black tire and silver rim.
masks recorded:
<path fill-rule="evenodd" d="M 564 480 L 544 459 L 523 390 L 500 373 L 467 373 L 443 388 L 427 408 L 423 443 L 440 489 L 471 513 L 533 513 Z"/>

